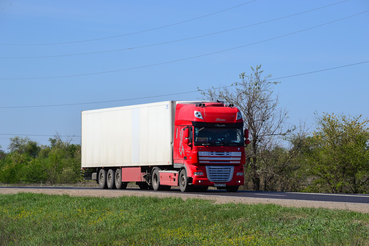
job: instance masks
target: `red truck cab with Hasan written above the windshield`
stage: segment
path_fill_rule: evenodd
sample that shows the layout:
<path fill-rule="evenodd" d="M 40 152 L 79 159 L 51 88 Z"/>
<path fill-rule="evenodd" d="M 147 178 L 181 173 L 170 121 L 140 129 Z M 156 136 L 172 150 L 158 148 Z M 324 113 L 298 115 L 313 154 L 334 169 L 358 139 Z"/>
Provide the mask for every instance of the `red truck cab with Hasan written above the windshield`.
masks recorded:
<path fill-rule="evenodd" d="M 245 143 L 241 112 L 223 103 L 177 104 L 174 167 L 182 191 L 209 186 L 235 192 L 244 184 Z M 183 171 L 183 167 L 184 170 Z"/>

